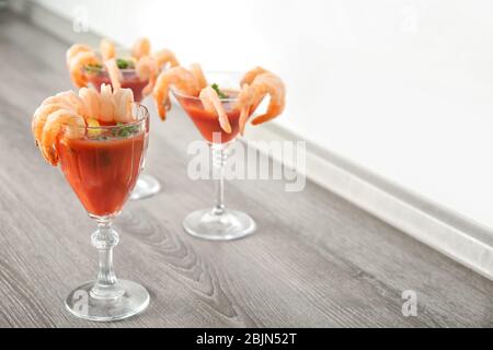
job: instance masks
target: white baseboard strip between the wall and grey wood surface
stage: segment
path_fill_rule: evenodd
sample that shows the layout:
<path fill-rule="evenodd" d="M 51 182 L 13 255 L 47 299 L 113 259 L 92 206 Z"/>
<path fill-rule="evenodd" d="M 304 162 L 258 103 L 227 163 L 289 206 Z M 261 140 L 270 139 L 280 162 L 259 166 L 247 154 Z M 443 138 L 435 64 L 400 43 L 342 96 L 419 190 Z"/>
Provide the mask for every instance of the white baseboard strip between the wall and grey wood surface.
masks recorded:
<path fill-rule="evenodd" d="M 92 33 L 74 33 L 67 19 L 36 2 L 11 1 L 11 9 L 64 40 L 99 40 Z M 249 128 L 248 136 L 249 140 L 299 139 L 276 124 Z M 306 165 L 309 179 L 493 280 L 491 230 L 310 143 Z"/>

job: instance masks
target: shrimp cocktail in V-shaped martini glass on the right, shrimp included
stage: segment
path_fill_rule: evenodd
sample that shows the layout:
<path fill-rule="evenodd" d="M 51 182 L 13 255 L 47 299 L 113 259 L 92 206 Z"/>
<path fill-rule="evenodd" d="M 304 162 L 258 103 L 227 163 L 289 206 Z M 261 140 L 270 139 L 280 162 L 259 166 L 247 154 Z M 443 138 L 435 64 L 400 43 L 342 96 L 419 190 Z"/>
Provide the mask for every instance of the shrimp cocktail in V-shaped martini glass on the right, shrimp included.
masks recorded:
<path fill-rule="evenodd" d="M 260 67 L 244 75 L 209 73 L 206 77 L 198 65 L 190 69 L 177 66 L 162 72 L 156 82 L 153 97 L 162 119 L 171 106 L 170 91 L 210 145 L 217 171 L 215 207 L 190 213 L 183 222 L 185 231 L 197 237 L 222 241 L 253 233 L 255 222 L 250 215 L 225 207 L 223 167 L 228 145 L 238 135 L 243 135 L 246 121 L 264 97 L 270 96 L 267 110 L 256 116 L 253 125 L 283 113 L 286 95 L 283 81 Z"/>

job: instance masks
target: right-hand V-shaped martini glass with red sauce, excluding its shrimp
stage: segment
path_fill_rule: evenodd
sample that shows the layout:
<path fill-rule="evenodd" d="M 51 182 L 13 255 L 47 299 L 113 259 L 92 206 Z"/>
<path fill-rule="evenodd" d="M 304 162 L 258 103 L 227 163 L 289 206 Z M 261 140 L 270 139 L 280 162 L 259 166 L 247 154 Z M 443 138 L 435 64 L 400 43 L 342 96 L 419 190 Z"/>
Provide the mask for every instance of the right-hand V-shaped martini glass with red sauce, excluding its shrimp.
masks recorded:
<path fill-rule="evenodd" d="M 238 90 L 241 79 L 241 74 L 232 72 L 210 72 L 206 75 L 209 82 L 217 83 L 226 92 Z M 176 90 L 172 92 L 208 143 L 217 174 L 215 176 L 216 205 L 213 208 L 190 213 L 183 221 L 183 228 L 193 236 L 214 241 L 230 241 L 253 233 L 256 224 L 249 214 L 227 209 L 225 206 L 225 164 L 231 153 L 229 147 L 236 141 L 240 131 L 240 112 L 234 109 L 237 100 L 221 98 L 231 125 L 231 132 L 227 133 L 221 129 L 217 115 L 206 112 L 198 97 L 182 94 Z M 251 113 L 254 109 L 251 108 Z"/>

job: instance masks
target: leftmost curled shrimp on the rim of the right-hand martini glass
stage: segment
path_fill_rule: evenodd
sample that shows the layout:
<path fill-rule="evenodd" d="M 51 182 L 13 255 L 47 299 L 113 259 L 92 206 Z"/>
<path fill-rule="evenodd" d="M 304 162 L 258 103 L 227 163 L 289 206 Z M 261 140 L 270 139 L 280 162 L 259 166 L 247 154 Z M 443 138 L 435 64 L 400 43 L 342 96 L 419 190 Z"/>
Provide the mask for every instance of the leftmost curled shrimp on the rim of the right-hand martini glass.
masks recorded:
<path fill-rule="evenodd" d="M 169 91 L 171 85 L 174 85 L 177 91 L 191 96 L 196 96 L 199 92 L 194 75 L 185 68 L 176 66 L 161 72 L 156 81 L 152 95 L 162 120 L 167 117 L 167 108 L 169 109 Z"/>

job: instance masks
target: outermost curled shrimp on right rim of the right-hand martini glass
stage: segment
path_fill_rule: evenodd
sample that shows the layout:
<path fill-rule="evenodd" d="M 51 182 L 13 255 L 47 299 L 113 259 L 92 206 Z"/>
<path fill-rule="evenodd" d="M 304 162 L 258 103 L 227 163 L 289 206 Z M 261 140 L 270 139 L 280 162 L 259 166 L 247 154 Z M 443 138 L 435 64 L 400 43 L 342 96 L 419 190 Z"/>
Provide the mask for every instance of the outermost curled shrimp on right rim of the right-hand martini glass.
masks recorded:
<path fill-rule="evenodd" d="M 259 74 L 250 86 L 254 90 L 255 94 L 253 105 L 257 105 L 266 95 L 271 96 L 267 112 L 254 118 L 252 120 L 253 125 L 268 121 L 283 113 L 286 104 L 286 88 L 279 77 L 271 72 L 265 72 Z"/>

